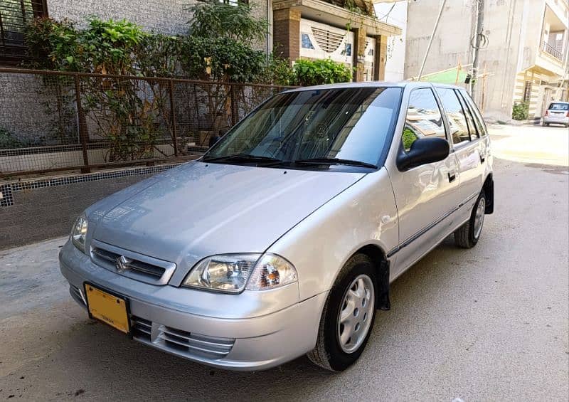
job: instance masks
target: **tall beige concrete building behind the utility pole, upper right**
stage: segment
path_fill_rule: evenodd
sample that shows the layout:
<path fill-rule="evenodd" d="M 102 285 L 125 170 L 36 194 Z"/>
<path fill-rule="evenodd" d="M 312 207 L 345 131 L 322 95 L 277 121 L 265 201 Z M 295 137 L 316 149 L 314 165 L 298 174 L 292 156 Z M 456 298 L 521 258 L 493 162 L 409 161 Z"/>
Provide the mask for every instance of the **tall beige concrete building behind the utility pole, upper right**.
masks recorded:
<path fill-rule="evenodd" d="M 450 0 L 443 10 L 425 74 L 472 63 L 477 0 Z M 408 7 L 405 78 L 418 75 L 440 0 Z M 484 1 L 476 101 L 486 117 L 510 120 L 514 102 L 540 117 L 551 100 L 568 97 L 568 0 Z"/>

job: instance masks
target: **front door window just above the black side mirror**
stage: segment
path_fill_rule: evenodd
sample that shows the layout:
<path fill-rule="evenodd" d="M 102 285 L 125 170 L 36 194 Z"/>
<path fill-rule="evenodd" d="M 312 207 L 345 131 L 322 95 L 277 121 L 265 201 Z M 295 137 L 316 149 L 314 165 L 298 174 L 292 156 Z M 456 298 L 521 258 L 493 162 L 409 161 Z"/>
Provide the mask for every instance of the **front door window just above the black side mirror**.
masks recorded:
<path fill-rule="evenodd" d="M 411 144 L 421 137 L 447 138 L 445 125 L 435 94 L 430 88 L 413 90 L 409 96 L 409 105 L 403 127 L 403 148 L 411 149 Z"/>

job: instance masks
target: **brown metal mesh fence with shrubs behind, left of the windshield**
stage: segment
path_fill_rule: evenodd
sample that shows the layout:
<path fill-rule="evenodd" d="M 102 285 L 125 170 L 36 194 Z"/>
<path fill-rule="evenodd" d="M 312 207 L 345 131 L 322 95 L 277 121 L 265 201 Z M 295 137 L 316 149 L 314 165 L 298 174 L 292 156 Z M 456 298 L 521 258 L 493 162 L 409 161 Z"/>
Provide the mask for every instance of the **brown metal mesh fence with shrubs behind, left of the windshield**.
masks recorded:
<path fill-rule="evenodd" d="M 283 89 L 0 68 L 0 177 L 196 159 Z"/>

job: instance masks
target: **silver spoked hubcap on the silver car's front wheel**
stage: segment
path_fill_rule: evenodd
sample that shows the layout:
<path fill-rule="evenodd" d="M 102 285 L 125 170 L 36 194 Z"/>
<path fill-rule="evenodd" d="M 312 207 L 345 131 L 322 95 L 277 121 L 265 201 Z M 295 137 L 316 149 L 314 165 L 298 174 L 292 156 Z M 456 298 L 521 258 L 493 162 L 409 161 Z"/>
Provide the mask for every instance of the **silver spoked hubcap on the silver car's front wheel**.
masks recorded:
<path fill-rule="evenodd" d="M 338 341 L 344 352 L 356 351 L 366 339 L 375 305 L 371 278 L 359 275 L 346 290 L 338 317 Z"/>

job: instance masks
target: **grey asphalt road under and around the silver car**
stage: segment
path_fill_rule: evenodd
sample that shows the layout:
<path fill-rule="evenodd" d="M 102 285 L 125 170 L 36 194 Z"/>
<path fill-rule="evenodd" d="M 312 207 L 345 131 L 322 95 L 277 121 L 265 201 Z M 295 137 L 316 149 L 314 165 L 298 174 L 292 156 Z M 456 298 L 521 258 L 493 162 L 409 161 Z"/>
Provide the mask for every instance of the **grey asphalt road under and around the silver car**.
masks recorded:
<path fill-rule="evenodd" d="M 496 154 L 519 135 L 499 130 Z M 523 130 L 526 163 L 495 161 L 496 210 L 477 247 L 447 239 L 393 283 L 392 310 L 343 374 L 304 357 L 213 370 L 129 341 L 70 300 L 55 239 L 0 252 L 0 399 L 568 401 L 569 172 L 563 155 L 541 163 L 549 147 L 568 152 L 569 133 Z"/>

